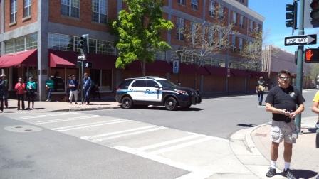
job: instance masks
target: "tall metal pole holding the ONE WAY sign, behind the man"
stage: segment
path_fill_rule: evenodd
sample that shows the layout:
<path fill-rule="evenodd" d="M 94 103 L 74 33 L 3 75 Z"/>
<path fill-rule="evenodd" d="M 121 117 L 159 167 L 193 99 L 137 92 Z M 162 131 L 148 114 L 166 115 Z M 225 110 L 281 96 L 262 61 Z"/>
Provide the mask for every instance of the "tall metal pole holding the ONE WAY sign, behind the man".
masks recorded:
<path fill-rule="evenodd" d="M 300 0 L 300 16 L 299 16 L 299 26 L 298 35 L 304 35 L 305 31 L 303 29 L 303 11 L 305 6 L 305 0 Z M 303 45 L 298 45 L 297 49 L 297 77 L 296 77 L 297 89 L 302 94 L 303 92 Z M 298 133 L 301 131 L 301 114 L 296 116 L 295 124 L 298 129 Z"/>

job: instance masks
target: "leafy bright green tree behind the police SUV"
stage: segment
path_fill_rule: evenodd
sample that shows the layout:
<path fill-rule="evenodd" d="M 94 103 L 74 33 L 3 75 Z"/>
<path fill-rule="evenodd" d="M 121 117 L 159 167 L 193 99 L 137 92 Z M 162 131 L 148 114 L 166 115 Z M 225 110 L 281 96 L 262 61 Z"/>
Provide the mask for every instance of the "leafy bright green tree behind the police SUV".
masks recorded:
<path fill-rule="evenodd" d="M 119 56 L 115 67 L 125 68 L 135 60 L 140 60 L 142 75 L 145 76 L 145 63 L 155 60 L 157 51 L 170 49 L 161 39 L 163 31 L 174 27 L 171 21 L 162 17 L 162 0 L 124 0 L 127 10 L 120 11 L 113 28 L 119 40 L 116 45 Z"/>

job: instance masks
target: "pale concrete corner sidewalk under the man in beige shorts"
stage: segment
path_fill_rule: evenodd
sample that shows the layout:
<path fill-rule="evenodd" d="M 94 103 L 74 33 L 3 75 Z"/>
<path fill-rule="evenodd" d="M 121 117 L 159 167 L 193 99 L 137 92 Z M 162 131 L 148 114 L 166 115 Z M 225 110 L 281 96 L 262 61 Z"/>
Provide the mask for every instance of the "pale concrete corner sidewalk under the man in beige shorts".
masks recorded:
<path fill-rule="evenodd" d="M 298 136 L 293 145 L 291 170 L 296 178 L 319 178 L 319 148 L 315 148 L 315 122 L 317 116 L 302 118 L 303 134 Z M 267 178 L 270 165 L 271 123 L 242 129 L 231 136 L 230 146 L 236 157 L 256 178 Z M 273 178 L 284 178 L 283 143 L 279 146 L 277 175 Z"/>

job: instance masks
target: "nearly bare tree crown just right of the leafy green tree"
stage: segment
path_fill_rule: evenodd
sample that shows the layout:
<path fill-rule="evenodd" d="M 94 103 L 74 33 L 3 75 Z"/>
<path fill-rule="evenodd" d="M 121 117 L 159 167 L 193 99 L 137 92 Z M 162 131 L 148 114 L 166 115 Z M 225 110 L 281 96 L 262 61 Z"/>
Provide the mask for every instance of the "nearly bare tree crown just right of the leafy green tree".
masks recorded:
<path fill-rule="evenodd" d="M 226 14 L 217 6 L 214 10 L 213 21 L 190 23 L 184 29 L 177 29 L 184 33 L 184 45 L 177 53 L 185 58 L 192 58 L 201 67 L 207 58 L 229 48 L 229 35 L 235 35 L 233 24 L 226 23 Z"/>

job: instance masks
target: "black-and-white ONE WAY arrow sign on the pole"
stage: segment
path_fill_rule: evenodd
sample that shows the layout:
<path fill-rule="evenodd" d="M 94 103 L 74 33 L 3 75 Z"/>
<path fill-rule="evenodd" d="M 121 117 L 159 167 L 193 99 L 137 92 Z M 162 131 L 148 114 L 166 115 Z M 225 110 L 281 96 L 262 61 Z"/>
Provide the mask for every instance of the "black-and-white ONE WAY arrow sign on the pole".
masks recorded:
<path fill-rule="evenodd" d="M 311 45 L 317 43 L 317 35 L 285 37 L 285 46 L 289 45 Z"/>

